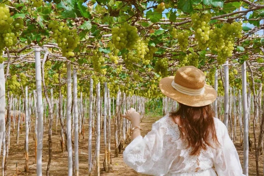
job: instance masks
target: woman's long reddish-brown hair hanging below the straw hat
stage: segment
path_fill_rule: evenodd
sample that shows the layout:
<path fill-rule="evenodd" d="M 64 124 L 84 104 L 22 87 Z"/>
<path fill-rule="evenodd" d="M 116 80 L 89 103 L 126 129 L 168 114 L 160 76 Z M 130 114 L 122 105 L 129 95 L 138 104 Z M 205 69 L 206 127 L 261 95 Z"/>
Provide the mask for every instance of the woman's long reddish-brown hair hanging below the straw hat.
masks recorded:
<path fill-rule="evenodd" d="M 201 149 L 207 149 L 206 146 L 215 148 L 219 145 L 214 126 L 214 111 L 210 105 L 191 107 L 179 103 L 179 108 L 170 112 L 170 117 L 174 121 L 180 117 L 181 138 L 192 148 L 190 155 L 199 155 Z M 213 142 L 210 143 L 210 139 Z"/>

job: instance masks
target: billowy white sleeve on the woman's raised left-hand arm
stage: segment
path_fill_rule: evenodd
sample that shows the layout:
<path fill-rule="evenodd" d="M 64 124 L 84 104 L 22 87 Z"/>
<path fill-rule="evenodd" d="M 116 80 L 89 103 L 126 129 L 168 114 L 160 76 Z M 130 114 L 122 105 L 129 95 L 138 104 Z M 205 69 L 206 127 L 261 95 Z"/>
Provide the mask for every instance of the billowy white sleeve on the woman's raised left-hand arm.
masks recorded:
<path fill-rule="evenodd" d="M 164 131 L 160 123 L 154 123 L 152 130 L 144 137 L 137 136 L 123 152 L 124 162 L 135 171 L 149 175 L 165 175 L 169 166 L 162 163 Z"/>

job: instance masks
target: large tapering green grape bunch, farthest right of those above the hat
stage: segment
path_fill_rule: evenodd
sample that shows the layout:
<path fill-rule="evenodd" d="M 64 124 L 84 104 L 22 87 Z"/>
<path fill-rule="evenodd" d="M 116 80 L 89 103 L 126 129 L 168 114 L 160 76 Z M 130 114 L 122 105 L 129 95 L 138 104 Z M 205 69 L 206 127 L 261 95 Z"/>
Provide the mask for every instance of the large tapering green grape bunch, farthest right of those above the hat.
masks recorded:
<path fill-rule="evenodd" d="M 233 55 L 235 38 L 242 37 L 242 23 L 233 22 L 231 24 L 224 23 L 221 28 L 215 27 L 210 33 L 209 49 L 217 51 L 217 61 L 224 64 L 227 57 Z"/>

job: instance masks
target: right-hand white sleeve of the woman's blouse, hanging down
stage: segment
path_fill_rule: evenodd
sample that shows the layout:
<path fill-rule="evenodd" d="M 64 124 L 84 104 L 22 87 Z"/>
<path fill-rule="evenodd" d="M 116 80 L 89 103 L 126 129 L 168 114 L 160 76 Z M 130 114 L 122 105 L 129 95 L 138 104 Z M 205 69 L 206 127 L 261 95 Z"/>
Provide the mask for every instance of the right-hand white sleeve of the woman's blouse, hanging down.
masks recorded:
<path fill-rule="evenodd" d="M 216 120 L 217 136 L 220 147 L 215 150 L 214 166 L 218 175 L 245 176 L 242 174 L 242 167 L 239 161 L 238 152 L 228 136 L 226 126 Z"/>

